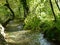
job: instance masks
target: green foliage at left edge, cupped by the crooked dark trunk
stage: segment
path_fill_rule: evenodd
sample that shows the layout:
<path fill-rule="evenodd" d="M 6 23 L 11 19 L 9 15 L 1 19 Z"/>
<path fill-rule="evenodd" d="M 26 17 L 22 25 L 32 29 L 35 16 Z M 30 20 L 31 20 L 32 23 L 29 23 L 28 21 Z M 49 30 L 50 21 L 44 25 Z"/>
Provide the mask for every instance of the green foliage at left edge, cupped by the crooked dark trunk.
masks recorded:
<path fill-rule="evenodd" d="M 6 19 L 10 17 L 10 11 L 5 6 L 0 7 L 0 23 L 3 23 Z"/>

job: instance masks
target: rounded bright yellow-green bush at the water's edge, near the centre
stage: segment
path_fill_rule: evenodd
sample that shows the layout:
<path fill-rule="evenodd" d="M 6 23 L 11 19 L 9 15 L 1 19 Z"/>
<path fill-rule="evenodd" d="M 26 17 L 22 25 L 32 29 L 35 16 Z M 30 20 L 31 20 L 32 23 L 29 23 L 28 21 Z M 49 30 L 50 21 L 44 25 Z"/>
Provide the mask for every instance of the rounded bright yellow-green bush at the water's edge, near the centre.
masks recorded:
<path fill-rule="evenodd" d="M 40 29 L 39 25 L 40 25 L 40 19 L 36 15 L 29 15 L 25 19 L 24 29 L 39 30 Z"/>

